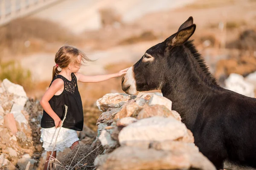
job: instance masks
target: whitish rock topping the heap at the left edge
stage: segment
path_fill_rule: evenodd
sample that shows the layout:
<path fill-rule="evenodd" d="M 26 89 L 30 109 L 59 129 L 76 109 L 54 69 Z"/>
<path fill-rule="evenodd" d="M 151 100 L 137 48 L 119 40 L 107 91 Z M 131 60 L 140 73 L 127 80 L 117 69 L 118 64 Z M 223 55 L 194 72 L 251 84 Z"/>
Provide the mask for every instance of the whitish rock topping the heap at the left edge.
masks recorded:
<path fill-rule="evenodd" d="M 26 92 L 21 85 L 14 84 L 8 79 L 4 79 L 1 86 L 10 94 L 14 94 L 13 102 L 18 105 L 24 106 L 27 101 Z"/>

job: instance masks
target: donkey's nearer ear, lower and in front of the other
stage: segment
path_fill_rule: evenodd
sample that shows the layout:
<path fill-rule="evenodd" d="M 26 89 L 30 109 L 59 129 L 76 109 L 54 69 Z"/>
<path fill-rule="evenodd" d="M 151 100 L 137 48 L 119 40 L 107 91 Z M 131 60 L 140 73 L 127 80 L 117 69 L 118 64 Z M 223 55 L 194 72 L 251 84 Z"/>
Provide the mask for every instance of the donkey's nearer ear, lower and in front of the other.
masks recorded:
<path fill-rule="evenodd" d="M 195 27 L 195 24 L 192 24 L 191 26 L 178 31 L 176 34 L 173 34 L 167 39 L 167 45 L 176 46 L 183 44 L 194 34 Z"/>

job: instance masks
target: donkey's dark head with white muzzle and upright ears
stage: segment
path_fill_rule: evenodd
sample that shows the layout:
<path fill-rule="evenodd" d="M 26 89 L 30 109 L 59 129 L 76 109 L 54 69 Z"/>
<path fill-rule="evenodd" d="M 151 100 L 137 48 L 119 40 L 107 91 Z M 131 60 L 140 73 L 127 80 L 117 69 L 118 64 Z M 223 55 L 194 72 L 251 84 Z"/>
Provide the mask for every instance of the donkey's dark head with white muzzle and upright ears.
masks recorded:
<path fill-rule="evenodd" d="M 173 51 L 172 48 L 183 45 L 195 32 L 195 27 L 193 18 L 189 17 L 180 26 L 177 33 L 164 42 L 149 48 L 122 78 L 122 90 L 128 94 L 136 94 L 137 91 L 161 89 L 166 77 L 172 79 L 172 75 L 166 75 L 164 70 L 172 68 L 172 65 L 177 65 L 178 53 L 177 50 Z M 171 54 L 172 52 L 173 54 Z"/>

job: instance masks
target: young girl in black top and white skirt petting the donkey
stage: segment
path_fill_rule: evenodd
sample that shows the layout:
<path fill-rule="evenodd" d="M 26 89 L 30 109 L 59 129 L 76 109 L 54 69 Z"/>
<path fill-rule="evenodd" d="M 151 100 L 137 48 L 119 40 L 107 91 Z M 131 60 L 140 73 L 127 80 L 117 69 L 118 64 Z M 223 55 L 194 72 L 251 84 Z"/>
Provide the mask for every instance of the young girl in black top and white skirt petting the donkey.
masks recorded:
<path fill-rule="evenodd" d="M 78 144 L 79 138 L 76 131 L 83 130 L 84 115 L 81 96 L 78 91 L 79 82 L 101 82 L 113 77 L 125 74 L 128 68 L 115 74 L 84 76 L 78 73 L 82 62 L 91 61 L 83 52 L 72 46 L 61 47 L 55 55 L 56 65 L 52 71 L 52 82 L 42 97 L 40 104 L 44 108 L 41 119 L 41 142 L 47 151 L 47 161 L 44 170 L 47 170 L 49 155 L 55 144 L 57 132 L 65 115 L 67 105 L 67 116 L 58 134 L 53 157 L 56 158 L 56 150 L 65 147 L 73 149 Z M 58 67 L 61 71 L 58 71 Z M 56 128 L 58 130 L 56 130 Z"/>

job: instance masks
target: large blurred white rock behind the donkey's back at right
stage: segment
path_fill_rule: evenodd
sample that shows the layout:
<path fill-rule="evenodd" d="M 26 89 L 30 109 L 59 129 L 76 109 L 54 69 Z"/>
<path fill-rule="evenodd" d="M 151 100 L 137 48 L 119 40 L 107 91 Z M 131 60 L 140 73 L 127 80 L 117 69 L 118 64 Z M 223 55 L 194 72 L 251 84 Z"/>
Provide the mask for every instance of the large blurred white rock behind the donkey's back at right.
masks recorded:
<path fill-rule="evenodd" d="M 239 74 L 230 74 L 230 76 L 225 80 L 225 88 L 244 96 L 255 97 L 254 85 L 246 82 L 244 77 Z"/>

